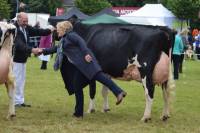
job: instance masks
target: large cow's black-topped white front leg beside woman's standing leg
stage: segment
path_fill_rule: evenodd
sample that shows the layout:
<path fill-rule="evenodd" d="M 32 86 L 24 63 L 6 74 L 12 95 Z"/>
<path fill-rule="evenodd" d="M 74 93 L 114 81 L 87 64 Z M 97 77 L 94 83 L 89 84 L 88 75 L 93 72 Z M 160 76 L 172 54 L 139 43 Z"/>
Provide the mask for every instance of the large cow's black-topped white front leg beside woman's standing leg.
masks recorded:
<path fill-rule="evenodd" d="M 94 113 L 95 112 L 95 94 L 96 94 L 96 82 L 91 81 L 89 84 L 89 95 L 90 95 L 90 102 L 89 102 L 89 108 L 88 113 Z"/>

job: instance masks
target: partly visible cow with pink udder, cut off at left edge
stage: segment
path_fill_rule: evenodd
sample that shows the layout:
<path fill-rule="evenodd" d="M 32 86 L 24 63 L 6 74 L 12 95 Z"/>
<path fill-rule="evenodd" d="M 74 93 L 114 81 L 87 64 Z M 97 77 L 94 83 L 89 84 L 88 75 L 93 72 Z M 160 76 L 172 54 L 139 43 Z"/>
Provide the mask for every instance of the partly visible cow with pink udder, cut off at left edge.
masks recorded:
<path fill-rule="evenodd" d="M 16 27 L 7 22 L 0 22 L 0 84 L 5 84 L 9 97 L 7 118 L 15 116 L 15 83 L 12 74 L 12 46 Z"/>

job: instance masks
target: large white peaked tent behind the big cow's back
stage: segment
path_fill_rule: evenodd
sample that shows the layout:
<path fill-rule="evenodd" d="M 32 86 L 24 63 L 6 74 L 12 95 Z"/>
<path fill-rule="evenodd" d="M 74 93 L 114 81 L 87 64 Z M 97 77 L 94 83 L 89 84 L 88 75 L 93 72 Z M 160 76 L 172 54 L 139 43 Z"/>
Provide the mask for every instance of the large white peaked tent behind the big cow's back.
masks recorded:
<path fill-rule="evenodd" d="M 133 24 L 139 20 L 144 25 L 168 26 L 170 28 L 176 20 L 176 16 L 162 4 L 145 4 L 139 10 L 120 18 Z"/>

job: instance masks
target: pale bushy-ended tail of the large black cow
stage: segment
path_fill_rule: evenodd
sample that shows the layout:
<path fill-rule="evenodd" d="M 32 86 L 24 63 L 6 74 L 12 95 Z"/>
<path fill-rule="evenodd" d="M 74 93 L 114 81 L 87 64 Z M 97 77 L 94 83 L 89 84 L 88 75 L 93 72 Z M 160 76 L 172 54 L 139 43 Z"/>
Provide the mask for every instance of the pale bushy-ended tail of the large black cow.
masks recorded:
<path fill-rule="evenodd" d="M 170 49 L 170 52 L 169 52 L 169 76 L 168 76 L 168 82 L 166 84 L 166 92 L 167 92 L 167 98 L 168 98 L 168 101 L 170 103 L 172 103 L 174 101 L 174 98 L 175 98 L 175 81 L 174 81 L 174 78 L 173 78 L 173 74 L 172 74 L 172 63 L 171 63 L 171 49 Z M 170 104 L 172 105 L 172 104 Z"/>

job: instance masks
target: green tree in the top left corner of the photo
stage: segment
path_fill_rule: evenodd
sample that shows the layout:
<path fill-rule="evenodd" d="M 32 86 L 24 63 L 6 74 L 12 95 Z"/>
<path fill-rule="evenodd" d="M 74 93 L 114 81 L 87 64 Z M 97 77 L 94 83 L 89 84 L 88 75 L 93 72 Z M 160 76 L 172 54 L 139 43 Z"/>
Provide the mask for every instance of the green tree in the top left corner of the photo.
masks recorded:
<path fill-rule="evenodd" d="M 9 18 L 11 12 L 10 4 L 8 0 L 0 0 L 0 20 L 4 18 Z"/>

